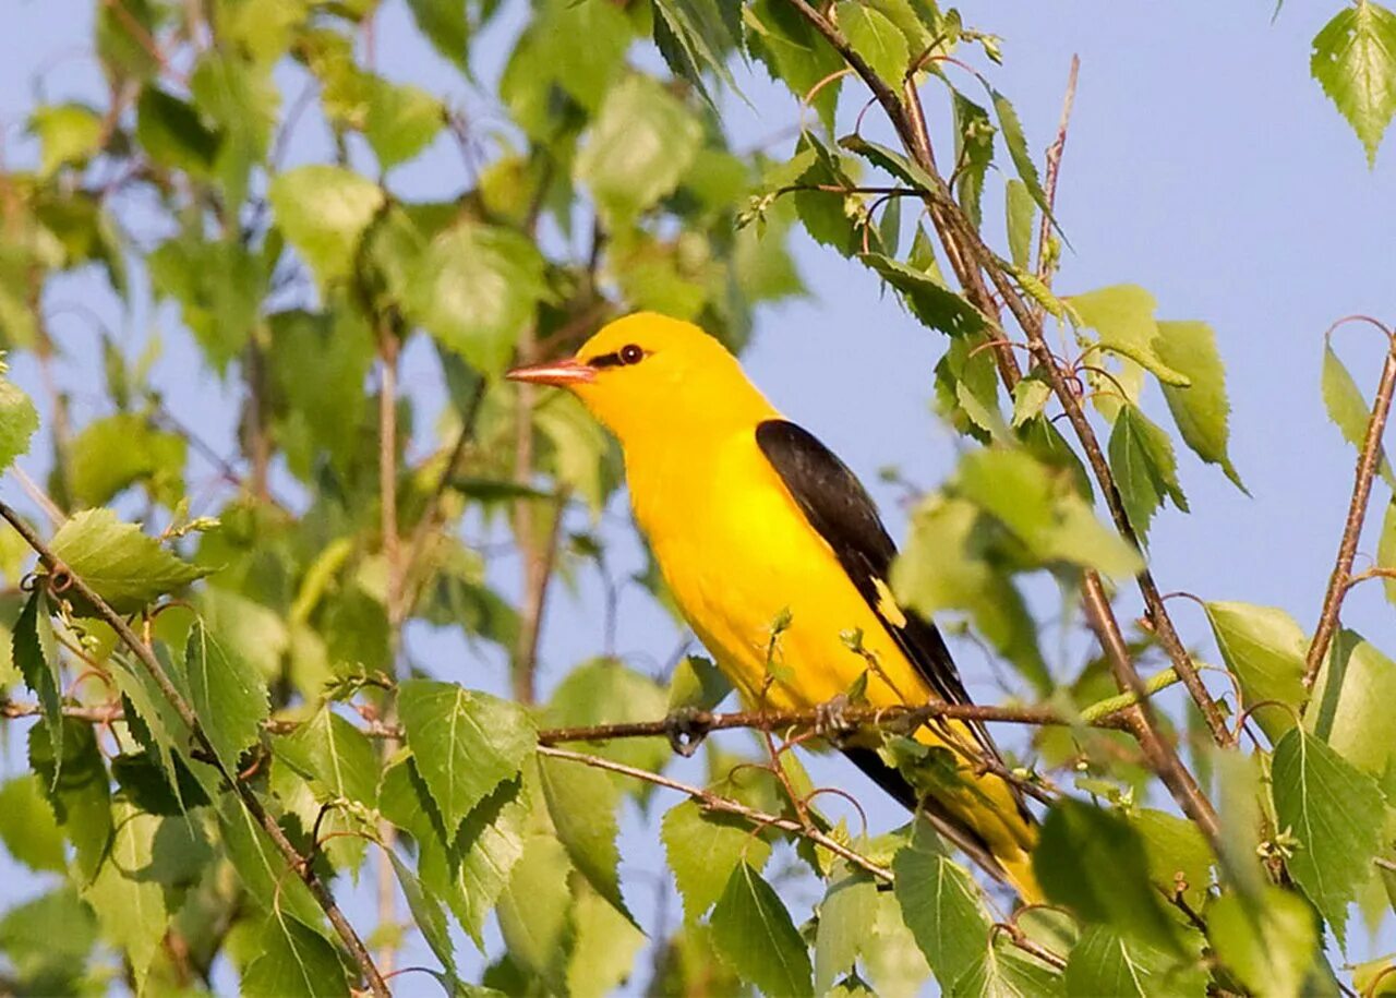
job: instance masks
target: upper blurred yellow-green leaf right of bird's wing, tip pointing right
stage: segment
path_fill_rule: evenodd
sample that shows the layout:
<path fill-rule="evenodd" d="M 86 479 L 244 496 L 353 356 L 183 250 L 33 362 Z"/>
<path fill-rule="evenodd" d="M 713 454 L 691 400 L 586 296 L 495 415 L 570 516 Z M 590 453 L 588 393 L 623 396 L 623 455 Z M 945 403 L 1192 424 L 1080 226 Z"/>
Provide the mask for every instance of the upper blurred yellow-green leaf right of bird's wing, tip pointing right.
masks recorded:
<path fill-rule="evenodd" d="M 1107 528 L 1085 500 L 1023 451 L 980 449 L 960 459 L 958 491 L 997 516 L 1047 563 L 1096 568 L 1128 578 L 1139 553 Z"/>

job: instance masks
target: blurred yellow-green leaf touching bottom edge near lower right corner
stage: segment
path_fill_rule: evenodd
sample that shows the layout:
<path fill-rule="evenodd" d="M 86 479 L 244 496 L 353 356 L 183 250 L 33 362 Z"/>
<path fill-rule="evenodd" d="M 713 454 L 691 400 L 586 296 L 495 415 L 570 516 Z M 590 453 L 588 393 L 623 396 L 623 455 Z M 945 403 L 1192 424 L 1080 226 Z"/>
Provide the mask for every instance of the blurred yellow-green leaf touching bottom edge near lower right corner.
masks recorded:
<path fill-rule="evenodd" d="M 1266 885 L 1259 903 L 1224 893 L 1208 907 L 1208 939 L 1227 970 L 1255 994 L 1298 998 L 1318 953 L 1314 911 Z"/>

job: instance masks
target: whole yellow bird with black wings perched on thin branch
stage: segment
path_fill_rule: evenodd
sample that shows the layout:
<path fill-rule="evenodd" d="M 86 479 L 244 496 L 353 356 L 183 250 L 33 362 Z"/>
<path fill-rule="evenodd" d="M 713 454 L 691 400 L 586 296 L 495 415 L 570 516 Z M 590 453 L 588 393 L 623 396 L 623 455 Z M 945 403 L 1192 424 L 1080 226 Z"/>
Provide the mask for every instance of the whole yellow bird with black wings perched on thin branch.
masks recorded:
<path fill-rule="evenodd" d="M 940 631 L 888 588 L 896 549 L 867 491 L 715 338 L 639 313 L 575 357 L 508 377 L 568 388 L 620 440 L 635 518 L 664 581 L 748 703 L 819 708 L 864 673 L 872 706 L 969 702 Z M 789 623 L 773 670 L 778 620 Z M 850 631 L 861 631 L 861 653 L 845 639 Z M 977 754 L 1001 759 L 988 731 L 940 722 L 916 737 L 955 759 L 948 779 L 921 793 L 871 747 L 843 751 L 1025 902 L 1040 900 L 1032 815 L 1015 786 L 974 765 Z"/>

